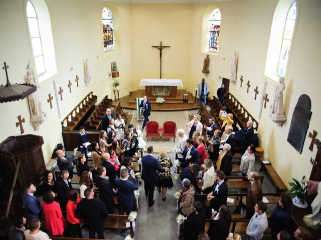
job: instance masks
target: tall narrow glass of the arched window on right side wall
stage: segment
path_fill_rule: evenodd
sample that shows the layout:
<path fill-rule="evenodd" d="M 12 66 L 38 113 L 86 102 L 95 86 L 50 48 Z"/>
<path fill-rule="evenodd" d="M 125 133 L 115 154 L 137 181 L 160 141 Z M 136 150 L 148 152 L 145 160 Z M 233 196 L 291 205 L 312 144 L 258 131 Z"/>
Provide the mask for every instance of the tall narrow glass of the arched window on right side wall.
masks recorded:
<path fill-rule="evenodd" d="M 285 21 L 285 27 L 284 27 L 284 33 L 282 38 L 282 46 L 279 56 L 279 62 L 277 65 L 276 74 L 279 76 L 284 76 L 287 61 L 289 59 L 289 51 L 292 41 L 292 35 L 294 31 L 295 26 L 295 20 L 296 20 L 296 2 L 293 2 L 291 5 Z"/>

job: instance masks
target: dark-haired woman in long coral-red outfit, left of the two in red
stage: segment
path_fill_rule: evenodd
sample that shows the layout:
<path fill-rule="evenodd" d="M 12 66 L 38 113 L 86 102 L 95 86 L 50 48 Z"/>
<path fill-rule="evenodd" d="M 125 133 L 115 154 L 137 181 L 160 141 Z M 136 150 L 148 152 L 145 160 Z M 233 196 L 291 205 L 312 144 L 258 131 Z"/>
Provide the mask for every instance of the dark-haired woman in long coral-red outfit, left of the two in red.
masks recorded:
<path fill-rule="evenodd" d="M 55 193 L 52 190 L 44 194 L 42 203 L 45 213 L 46 229 L 53 236 L 62 236 L 66 229 L 66 220 L 62 215 L 60 205 L 55 201 Z"/>

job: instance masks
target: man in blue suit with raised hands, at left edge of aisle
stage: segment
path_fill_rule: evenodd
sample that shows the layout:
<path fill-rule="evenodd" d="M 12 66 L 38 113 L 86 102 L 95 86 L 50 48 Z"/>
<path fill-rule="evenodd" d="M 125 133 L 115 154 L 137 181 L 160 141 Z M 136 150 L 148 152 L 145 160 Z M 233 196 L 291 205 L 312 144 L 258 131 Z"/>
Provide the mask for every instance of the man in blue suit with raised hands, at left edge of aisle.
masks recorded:
<path fill-rule="evenodd" d="M 138 189 L 138 182 L 135 178 L 135 173 L 131 174 L 132 181 L 128 180 L 128 170 L 124 168 L 120 171 L 120 178 L 115 179 L 115 186 L 117 187 L 117 198 L 119 214 L 122 215 L 126 211 L 126 214 L 132 210 L 135 194 L 134 190 Z"/>

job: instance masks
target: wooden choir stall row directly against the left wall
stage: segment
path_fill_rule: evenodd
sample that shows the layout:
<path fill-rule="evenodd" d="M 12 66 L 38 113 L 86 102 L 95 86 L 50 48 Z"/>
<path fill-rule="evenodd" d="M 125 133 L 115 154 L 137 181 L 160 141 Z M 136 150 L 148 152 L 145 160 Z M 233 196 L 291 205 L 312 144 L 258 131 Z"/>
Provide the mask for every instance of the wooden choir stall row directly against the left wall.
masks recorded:
<path fill-rule="evenodd" d="M 93 92 L 89 92 L 67 116 L 61 121 L 63 130 L 74 130 L 78 127 L 80 122 L 88 115 L 88 112 L 95 108 L 97 96 Z"/>

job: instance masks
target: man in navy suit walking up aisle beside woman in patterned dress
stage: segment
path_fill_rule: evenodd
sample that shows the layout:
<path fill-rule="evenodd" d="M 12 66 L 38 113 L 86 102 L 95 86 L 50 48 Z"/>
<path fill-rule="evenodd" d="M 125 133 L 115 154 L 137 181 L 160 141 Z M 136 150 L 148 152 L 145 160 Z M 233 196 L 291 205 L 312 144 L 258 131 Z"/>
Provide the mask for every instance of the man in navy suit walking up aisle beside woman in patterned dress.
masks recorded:
<path fill-rule="evenodd" d="M 144 180 L 144 189 L 146 197 L 148 196 L 148 206 L 152 206 L 154 204 L 154 188 L 155 183 L 158 180 L 157 171 L 166 172 L 169 171 L 170 168 L 162 168 L 159 165 L 158 160 L 152 156 L 153 147 L 147 147 L 147 155 L 141 157 L 142 171 L 141 171 L 141 179 Z"/>

